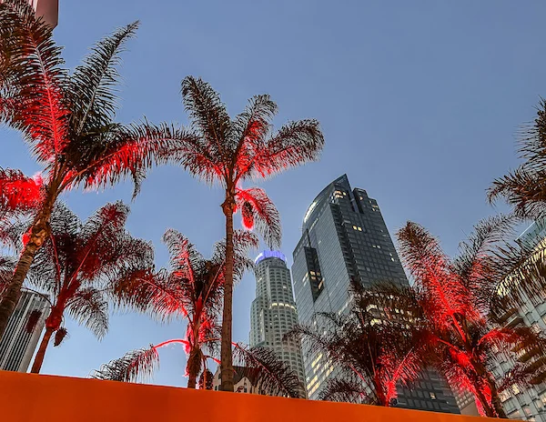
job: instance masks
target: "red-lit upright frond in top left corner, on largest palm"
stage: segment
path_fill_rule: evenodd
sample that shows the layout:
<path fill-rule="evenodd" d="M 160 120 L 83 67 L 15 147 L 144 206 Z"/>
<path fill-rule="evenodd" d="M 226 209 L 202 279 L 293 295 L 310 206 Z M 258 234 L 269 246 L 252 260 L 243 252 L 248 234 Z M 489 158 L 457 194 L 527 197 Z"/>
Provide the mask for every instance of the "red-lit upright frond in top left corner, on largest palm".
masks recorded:
<path fill-rule="evenodd" d="M 9 51 L 9 85 L 0 87 L 0 98 L 10 105 L 0 120 L 21 130 L 35 156 L 47 162 L 66 146 L 69 110 L 63 92 L 66 70 L 61 48 L 53 40 L 52 28 L 25 1 L 5 1 L 0 20 L 9 28 L 0 33 L 0 45 L 3 49 L 16 45 Z"/>

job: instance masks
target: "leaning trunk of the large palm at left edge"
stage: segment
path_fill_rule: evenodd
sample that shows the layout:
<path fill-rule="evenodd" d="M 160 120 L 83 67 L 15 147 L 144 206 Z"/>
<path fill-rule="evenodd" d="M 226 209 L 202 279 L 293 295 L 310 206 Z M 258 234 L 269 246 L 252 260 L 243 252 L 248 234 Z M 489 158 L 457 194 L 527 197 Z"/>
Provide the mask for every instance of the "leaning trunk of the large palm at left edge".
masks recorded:
<path fill-rule="evenodd" d="M 15 266 L 14 275 L 10 282 L 5 286 L 0 301 L 0 338 L 4 335 L 5 327 L 9 317 L 14 313 L 15 306 L 21 298 L 21 287 L 25 281 L 28 269 L 34 261 L 37 250 L 44 245 L 45 239 L 49 236 L 49 218 L 55 206 L 56 196 L 48 196 L 42 210 L 36 216 L 35 223 L 31 228 L 30 238 L 25 245 L 17 266 Z"/>

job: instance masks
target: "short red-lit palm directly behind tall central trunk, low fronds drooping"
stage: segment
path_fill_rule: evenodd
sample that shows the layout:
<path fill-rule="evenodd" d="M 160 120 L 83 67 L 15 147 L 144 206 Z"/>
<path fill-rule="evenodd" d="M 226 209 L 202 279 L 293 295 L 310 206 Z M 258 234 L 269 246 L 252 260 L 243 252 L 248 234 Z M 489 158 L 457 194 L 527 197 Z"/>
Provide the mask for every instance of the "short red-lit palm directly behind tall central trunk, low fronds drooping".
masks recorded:
<path fill-rule="evenodd" d="M 96 371 L 94 377 L 118 381 L 136 381 L 150 377 L 159 362 L 158 349 L 171 344 L 181 344 L 187 354 L 187 387 L 196 388 L 197 378 L 210 377 L 207 361 L 217 363 L 220 344 L 218 317 L 226 275 L 226 243 L 219 242 L 210 259 L 205 259 L 187 237 L 176 230 L 167 230 L 163 241 L 170 255 L 170 267 L 154 276 L 120 280 L 116 296 L 122 303 L 133 306 L 160 321 L 181 318 L 187 322 L 186 336 L 167 340 L 146 349 L 128 352 Z M 245 270 L 252 267 L 248 249 L 258 247 L 253 234 L 234 232 L 234 278 L 239 280 Z M 280 388 L 292 397 L 298 391 L 298 377 L 267 350 L 248 350 L 235 345 L 240 360 L 248 370 L 261 369 L 260 387 L 271 392 Z M 278 380 L 271 374 L 276 374 Z M 212 382 L 204 379 L 204 385 Z"/>

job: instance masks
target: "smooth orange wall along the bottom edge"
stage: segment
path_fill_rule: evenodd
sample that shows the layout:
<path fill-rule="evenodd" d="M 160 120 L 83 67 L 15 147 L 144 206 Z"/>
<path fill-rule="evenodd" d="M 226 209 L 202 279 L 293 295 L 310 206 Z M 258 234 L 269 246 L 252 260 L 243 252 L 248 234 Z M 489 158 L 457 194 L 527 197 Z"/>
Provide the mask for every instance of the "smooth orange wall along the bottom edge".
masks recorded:
<path fill-rule="evenodd" d="M 486 422 L 420 410 L 0 371 L 2 422 Z"/>

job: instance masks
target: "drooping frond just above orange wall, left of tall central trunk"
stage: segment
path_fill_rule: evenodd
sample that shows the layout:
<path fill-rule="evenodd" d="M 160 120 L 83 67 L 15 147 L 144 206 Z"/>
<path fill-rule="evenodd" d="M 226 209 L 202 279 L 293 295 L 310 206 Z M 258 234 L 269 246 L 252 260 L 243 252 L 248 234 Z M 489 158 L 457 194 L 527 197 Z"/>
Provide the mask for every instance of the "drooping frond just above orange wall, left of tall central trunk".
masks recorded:
<path fill-rule="evenodd" d="M 94 371 L 90 377 L 109 381 L 137 382 L 153 376 L 159 367 L 159 355 L 155 347 L 127 352 Z"/>

